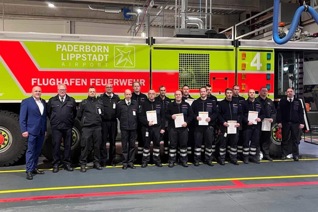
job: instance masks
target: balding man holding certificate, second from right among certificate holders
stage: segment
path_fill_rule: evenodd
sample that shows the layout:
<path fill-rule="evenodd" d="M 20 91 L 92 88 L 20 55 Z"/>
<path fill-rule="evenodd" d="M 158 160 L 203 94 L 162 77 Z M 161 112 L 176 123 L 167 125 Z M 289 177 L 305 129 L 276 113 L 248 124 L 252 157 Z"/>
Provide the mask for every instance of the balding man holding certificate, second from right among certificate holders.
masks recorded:
<path fill-rule="evenodd" d="M 249 161 L 259 163 L 259 152 L 256 153 L 256 149 L 259 149 L 260 123 L 265 118 L 265 111 L 262 104 L 255 99 L 255 90 L 250 89 L 248 91 L 248 99 L 242 103 L 242 112 L 244 135 L 243 161 L 246 164 Z M 251 118 L 251 114 L 255 116 L 253 119 Z"/>

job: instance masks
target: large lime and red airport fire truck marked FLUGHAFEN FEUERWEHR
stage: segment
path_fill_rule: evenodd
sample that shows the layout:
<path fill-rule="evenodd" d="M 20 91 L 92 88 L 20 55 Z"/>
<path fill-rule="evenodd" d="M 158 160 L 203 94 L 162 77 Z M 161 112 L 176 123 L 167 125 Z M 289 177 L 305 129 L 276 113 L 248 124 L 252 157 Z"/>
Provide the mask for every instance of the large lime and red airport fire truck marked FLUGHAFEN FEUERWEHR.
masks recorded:
<path fill-rule="evenodd" d="M 57 94 L 60 83 L 77 102 L 87 97 L 88 87 L 103 93 L 107 83 L 113 84 L 114 92 L 123 99 L 125 89 L 132 88 L 134 81 L 141 83 L 142 92 L 149 88 L 158 92 L 159 86 L 165 85 L 172 99 L 183 85 L 189 85 L 191 96 L 198 98 L 199 88 L 206 84 L 212 85 L 218 100 L 225 97 L 225 88 L 235 84 L 240 85 L 245 99 L 249 89 L 258 93 L 262 86 L 273 100 L 282 98 L 288 87 L 294 87 L 296 96 L 302 98 L 304 57 L 317 49 L 315 42 L 278 45 L 243 39 L 0 32 L 0 166 L 13 165 L 25 154 L 27 140 L 21 135 L 19 111 L 33 86 L 42 87 L 41 97 L 46 101 Z M 50 159 L 52 134 L 49 121 L 47 124 L 42 153 Z M 73 161 L 80 153 L 80 132 L 76 120 Z M 280 154 L 277 124 L 272 125 L 271 140 L 271 154 Z"/>

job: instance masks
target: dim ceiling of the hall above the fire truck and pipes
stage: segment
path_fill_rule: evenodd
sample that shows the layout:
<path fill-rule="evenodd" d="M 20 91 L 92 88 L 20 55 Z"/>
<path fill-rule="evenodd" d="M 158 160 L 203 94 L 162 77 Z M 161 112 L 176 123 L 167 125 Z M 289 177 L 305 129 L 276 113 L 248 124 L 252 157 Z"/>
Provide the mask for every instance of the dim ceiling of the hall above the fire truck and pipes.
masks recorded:
<path fill-rule="evenodd" d="M 205 12 L 204 0 L 188 0 L 189 12 Z M 245 11 L 262 11 L 273 5 L 273 0 L 212 0 L 212 27 L 227 28 L 239 20 L 239 14 Z M 48 7 L 53 3 L 54 8 Z M 129 8 L 137 10 L 142 8 L 145 0 L 4 0 L 4 17 L 16 19 L 38 19 L 38 20 L 71 20 L 110 24 L 131 24 L 134 16 L 125 19 L 123 13 L 105 13 L 93 11 L 88 8 L 91 4 L 95 7 L 106 7 L 107 9 Z M 207 0 L 210 12 L 210 0 Z M 0 3 L 2 11 L 3 4 Z M 150 15 L 155 17 L 162 8 L 164 14 L 164 26 L 175 27 L 175 0 L 154 0 L 154 7 Z M 1 14 L 0 14 L 1 15 Z M 202 14 L 204 16 L 204 14 Z M 152 26 L 159 25 L 157 18 Z"/>

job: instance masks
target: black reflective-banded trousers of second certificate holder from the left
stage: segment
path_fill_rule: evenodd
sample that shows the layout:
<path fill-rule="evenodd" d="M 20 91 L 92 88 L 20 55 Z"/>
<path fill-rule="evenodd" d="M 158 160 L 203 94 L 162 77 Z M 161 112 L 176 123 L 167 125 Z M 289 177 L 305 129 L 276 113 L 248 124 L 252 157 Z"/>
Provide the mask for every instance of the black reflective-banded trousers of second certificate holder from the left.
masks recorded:
<path fill-rule="evenodd" d="M 176 162 L 177 146 L 180 148 L 180 161 L 188 162 L 187 157 L 187 141 L 188 141 L 188 128 L 187 127 L 169 127 L 169 163 Z M 179 144 L 179 145 L 178 145 Z"/>

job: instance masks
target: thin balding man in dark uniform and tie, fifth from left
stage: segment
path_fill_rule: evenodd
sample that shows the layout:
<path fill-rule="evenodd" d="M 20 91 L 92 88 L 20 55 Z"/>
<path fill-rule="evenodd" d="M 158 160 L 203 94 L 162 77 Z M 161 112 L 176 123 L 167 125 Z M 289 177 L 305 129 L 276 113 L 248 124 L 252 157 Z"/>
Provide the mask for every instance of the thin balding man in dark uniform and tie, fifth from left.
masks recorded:
<path fill-rule="evenodd" d="M 124 93 L 125 99 L 117 106 L 117 118 L 120 121 L 121 147 L 122 147 L 122 169 L 129 166 L 135 169 L 135 138 L 137 130 L 138 102 L 131 99 L 131 91 L 127 89 Z"/>

